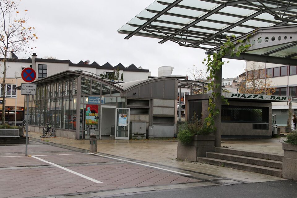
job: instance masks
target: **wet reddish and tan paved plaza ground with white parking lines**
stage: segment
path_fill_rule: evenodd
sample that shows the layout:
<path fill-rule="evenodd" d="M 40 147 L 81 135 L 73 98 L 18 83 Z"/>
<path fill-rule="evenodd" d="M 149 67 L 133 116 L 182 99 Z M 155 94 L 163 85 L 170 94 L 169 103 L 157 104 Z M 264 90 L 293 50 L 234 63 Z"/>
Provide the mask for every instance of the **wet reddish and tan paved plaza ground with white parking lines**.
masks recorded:
<path fill-rule="evenodd" d="M 176 160 L 177 141 L 41 138 L 0 146 L 0 198 L 109 197 L 160 190 L 281 180 L 258 173 Z M 225 141 L 222 146 L 281 153 L 281 139 Z M 265 146 L 266 145 L 266 146 Z M 265 150 L 266 149 L 266 150 Z"/>

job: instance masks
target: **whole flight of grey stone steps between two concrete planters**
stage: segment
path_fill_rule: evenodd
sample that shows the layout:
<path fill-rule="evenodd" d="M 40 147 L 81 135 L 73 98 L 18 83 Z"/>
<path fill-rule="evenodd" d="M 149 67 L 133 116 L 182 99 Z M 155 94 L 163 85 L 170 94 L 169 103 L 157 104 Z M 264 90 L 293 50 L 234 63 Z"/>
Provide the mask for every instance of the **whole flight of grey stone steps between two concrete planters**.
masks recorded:
<path fill-rule="evenodd" d="M 215 152 L 206 153 L 206 157 L 197 157 L 197 161 L 282 177 L 282 158 L 282 155 L 220 147 L 215 148 Z"/>

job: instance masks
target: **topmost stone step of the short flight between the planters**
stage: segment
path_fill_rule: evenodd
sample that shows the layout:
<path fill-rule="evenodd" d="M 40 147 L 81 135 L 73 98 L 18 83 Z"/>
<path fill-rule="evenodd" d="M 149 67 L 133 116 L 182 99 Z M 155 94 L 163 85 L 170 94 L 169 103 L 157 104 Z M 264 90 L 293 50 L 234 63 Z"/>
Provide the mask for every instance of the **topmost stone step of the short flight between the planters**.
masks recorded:
<path fill-rule="evenodd" d="M 259 153 L 259 152 L 244 151 L 240 149 L 222 148 L 222 147 L 217 147 L 215 151 L 216 153 L 255 157 L 255 158 L 275 160 L 275 161 L 282 161 L 282 158 L 283 158 L 283 156 L 280 154 L 272 154 L 272 153 L 264 153 L 264 152 Z"/>

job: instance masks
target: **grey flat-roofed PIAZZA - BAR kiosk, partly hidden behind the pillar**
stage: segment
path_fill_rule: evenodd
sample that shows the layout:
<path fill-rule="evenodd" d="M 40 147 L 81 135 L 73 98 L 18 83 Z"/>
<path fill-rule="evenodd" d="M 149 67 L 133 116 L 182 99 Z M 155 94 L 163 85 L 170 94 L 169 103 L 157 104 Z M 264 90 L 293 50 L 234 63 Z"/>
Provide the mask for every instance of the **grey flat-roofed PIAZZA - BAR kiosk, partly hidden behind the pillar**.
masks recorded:
<path fill-rule="evenodd" d="M 222 138 L 269 138 L 272 135 L 272 103 L 291 101 L 291 97 L 258 94 L 223 93 L 229 105 L 222 104 Z M 186 120 L 194 112 L 204 119 L 208 115 L 210 94 L 186 96 Z"/>

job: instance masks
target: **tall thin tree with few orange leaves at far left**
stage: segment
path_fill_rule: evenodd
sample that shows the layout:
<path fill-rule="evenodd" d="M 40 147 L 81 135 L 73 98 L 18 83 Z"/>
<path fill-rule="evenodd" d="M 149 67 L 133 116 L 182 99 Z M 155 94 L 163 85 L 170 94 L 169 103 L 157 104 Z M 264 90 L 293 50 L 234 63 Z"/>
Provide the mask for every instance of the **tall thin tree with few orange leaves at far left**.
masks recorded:
<path fill-rule="evenodd" d="M 10 0 L 0 0 L 0 54 L 3 56 L 1 61 L 4 68 L 1 68 L 2 76 L 2 124 L 5 123 L 5 95 L 6 95 L 6 61 L 9 60 L 8 54 L 18 52 L 28 52 L 33 48 L 30 47 L 30 41 L 38 39 L 34 27 L 27 26 L 26 14 L 20 17 L 17 7 L 19 2 Z M 25 13 L 27 10 L 25 10 Z"/>

